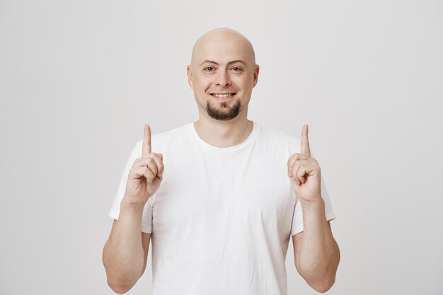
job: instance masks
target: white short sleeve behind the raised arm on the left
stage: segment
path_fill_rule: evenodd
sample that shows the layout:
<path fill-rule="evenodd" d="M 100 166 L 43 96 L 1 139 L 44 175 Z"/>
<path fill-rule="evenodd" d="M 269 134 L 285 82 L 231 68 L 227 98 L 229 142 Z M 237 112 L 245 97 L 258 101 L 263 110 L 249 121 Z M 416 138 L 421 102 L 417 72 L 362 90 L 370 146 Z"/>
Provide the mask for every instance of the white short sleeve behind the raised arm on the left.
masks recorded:
<path fill-rule="evenodd" d="M 132 168 L 132 164 L 137 158 L 142 156 L 142 144 L 143 141 L 138 141 L 135 144 L 134 149 L 130 154 L 130 157 L 127 159 L 125 168 L 123 169 L 122 176 L 120 178 L 120 183 L 117 187 L 117 192 L 115 193 L 113 204 L 109 211 L 109 216 L 115 220 L 118 220 L 118 216 L 120 215 L 120 202 L 122 202 L 123 196 L 125 195 L 127 178 L 130 174 L 130 170 Z M 143 209 L 142 216 L 142 231 L 144 233 L 152 233 L 152 198 L 148 199 Z"/>

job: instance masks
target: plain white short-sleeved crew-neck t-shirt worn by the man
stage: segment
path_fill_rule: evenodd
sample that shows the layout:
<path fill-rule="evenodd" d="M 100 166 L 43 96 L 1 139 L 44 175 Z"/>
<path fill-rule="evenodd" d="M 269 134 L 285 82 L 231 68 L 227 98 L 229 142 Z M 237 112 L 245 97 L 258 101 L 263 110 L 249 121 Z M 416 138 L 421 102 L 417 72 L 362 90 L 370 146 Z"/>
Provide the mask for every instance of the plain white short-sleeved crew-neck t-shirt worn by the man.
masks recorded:
<path fill-rule="evenodd" d="M 118 219 L 135 145 L 109 215 Z M 154 295 L 286 295 L 289 238 L 303 216 L 287 176 L 300 139 L 253 121 L 236 146 L 207 144 L 193 122 L 152 135 L 163 154 L 163 181 L 144 207 L 151 233 Z M 311 155 L 312 156 L 312 155 Z M 321 180 L 326 219 L 334 219 Z"/>

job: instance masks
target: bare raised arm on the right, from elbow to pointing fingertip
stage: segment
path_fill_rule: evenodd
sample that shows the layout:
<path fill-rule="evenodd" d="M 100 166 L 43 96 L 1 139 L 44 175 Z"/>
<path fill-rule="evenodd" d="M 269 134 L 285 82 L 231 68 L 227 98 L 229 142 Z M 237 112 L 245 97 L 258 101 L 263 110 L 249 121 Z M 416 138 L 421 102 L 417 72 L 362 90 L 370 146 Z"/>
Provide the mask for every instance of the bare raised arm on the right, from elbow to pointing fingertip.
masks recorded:
<path fill-rule="evenodd" d="M 326 220 L 320 166 L 311 158 L 307 125 L 301 130 L 301 154 L 288 159 L 288 176 L 303 210 L 304 231 L 292 237 L 295 267 L 309 286 L 326 292 L 335 282 L 340 250 Z"/>

